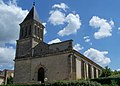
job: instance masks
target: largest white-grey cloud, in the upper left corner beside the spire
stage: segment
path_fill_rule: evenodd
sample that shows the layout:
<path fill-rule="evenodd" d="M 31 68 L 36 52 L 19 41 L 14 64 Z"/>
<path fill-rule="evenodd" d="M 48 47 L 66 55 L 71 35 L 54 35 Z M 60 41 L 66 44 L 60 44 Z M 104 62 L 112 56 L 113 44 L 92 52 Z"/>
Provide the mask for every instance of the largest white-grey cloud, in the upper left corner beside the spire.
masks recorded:
<path fill-rule="evenodd" d="M 8 2 L 8 4 L 0 2 L 0 42 L 18 39 L 19 24 L 27 13 L 27 10 L 22 10 L 21 7 L 12 4 L 12 2 Z"/>

